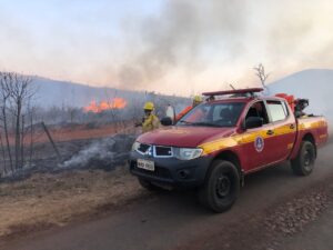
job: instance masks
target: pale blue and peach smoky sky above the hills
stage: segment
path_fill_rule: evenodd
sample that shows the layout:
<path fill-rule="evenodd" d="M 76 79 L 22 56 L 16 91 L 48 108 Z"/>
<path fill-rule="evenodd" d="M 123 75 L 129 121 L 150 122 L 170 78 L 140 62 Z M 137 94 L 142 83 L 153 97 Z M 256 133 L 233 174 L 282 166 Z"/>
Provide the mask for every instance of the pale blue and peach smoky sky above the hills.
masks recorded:
<path fill-rule="evenodd" d="M 331 0 L 0 0 L 0 70 L 189 96 L 333 68 Z"/>

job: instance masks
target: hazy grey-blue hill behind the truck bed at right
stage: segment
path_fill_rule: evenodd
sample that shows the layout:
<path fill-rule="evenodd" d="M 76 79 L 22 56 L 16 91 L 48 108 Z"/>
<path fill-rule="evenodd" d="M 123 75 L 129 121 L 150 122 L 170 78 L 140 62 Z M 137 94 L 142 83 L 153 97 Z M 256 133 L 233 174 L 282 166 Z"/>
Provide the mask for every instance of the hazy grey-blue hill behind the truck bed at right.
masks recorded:
<path fill-rule="evenodd" d="M 333 121 L 333 70 L 309 69 L 269 84 L 272 93 L 292 93 L 295 98 L 310 99 L 306 112 L 324 114 Z"/>

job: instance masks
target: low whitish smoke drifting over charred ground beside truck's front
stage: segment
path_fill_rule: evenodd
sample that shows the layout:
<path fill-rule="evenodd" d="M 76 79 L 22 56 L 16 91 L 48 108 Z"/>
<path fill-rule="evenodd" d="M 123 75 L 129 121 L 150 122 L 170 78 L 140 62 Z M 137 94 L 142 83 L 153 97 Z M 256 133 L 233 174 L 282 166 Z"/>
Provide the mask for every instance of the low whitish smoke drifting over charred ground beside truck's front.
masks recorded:
<path fill-rule="evenodd" d="M 128 159 L 134 140 L 134 134 L 117 134 L 94 141 L 59 167 L 112 169 Z"/>

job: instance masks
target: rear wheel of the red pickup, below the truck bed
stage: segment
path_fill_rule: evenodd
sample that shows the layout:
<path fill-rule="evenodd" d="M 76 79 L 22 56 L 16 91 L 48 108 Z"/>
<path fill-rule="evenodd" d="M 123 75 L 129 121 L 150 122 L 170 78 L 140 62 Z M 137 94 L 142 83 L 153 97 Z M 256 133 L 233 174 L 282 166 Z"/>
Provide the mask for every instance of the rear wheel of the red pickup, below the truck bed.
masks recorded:
<path fill-rule="evenodd" d="M 291 167 L 296 176 L 309 176 L 314 168 L 315 147 L 310 141 L 302 141 L 297 157 L 291 160 Z"/>

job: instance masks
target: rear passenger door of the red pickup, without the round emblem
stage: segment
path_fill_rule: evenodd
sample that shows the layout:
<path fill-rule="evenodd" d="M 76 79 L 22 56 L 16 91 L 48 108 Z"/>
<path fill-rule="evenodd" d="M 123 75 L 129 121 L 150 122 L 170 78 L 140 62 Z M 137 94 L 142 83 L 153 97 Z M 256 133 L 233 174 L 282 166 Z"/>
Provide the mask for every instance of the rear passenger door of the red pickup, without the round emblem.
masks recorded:
<path fill-rule="evenodd" d="M 273 124 L 274 144 L 271 149 L 272 162 L 285 160 L 292 149 L 296 137 L 296 120 L 284 101 L 266 101 L 270 120 Z"/>

